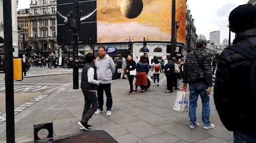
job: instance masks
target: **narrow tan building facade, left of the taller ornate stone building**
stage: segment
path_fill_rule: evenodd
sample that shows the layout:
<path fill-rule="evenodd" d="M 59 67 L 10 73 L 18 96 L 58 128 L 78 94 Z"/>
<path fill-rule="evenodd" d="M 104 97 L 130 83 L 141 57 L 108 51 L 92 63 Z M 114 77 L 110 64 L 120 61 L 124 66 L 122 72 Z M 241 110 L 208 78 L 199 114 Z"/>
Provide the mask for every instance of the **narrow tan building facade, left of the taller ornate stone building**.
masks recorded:
<path fill-rule="evenodd" d="M 17 11 L 17 20 L 18 20 L 18 53 L 19 58 L 22 58 L 24 54 L 24 43 L 23 36 L 25 38 L 25 44 L 27 47 L 31 45 L 31 24 L 30 24 L 30 10 L 29 9 L 20 9 Z"/>

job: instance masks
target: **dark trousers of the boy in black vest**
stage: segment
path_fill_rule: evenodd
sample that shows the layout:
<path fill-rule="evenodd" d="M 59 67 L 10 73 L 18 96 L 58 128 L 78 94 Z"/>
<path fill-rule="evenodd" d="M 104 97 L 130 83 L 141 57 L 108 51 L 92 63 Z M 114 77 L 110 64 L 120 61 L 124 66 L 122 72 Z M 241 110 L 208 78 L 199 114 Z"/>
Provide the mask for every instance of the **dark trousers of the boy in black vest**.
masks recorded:
<path fill-rule="evenodd" d="M 84 108 L 82 112 L 81 123 L 88 124 L 89 119 L 92 118 L 94 112 L 98 108 L 98 100 L 96 92 L 82 90 L 82 93 L 84 96 Z"/>

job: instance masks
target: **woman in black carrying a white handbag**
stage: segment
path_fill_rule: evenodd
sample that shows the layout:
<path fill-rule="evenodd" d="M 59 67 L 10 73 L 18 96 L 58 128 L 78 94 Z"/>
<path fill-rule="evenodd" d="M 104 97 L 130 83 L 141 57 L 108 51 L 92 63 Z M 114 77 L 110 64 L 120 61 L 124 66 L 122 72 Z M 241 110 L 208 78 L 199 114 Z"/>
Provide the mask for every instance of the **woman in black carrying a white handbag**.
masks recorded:
<path fill-rule="evenodd" d="M 129 54 L 127 56 L 127 61 L 126 61 L 127 65 L 126 65 L 126 74 L 130 83 L 130 95 L 135 94 L 134 90 L 133 90 L 133 79 L 136 76 L 136 63 L 135 61 L 133 61 L 132 55 Z"/>

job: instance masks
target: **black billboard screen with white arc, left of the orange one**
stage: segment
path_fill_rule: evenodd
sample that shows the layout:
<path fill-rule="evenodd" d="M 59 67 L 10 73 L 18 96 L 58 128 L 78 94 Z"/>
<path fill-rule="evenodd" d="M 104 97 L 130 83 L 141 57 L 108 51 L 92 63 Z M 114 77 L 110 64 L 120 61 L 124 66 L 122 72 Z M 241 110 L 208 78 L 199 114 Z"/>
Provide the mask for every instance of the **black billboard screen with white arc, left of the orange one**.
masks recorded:
<path fill-rule="evenodd" d="M 89 38 L 97 39 L 97 12 L 96 12 L 96 0 L 80 0 L 80 31 L 78 32 L 79 43 L 88 43 Z M 57 1 L 57 23 L 58 23 L 58 44 L 70 45 L 73 41 L 73 30 L 68 28 L 64 24 L 64 19 L 67 18 L 67 14 L 73 11 L 73 0 L 61 0 Z"/>

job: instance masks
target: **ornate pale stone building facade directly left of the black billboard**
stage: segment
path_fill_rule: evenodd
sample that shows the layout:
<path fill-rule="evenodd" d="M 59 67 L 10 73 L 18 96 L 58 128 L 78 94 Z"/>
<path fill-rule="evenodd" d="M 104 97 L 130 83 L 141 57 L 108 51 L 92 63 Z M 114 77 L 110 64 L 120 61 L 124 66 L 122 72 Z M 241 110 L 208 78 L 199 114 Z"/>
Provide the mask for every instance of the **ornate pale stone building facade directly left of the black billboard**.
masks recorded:
<path fill-rule="evenodd" d="M 56 52 L 57 46 L 57 1 L 31 0 L 30 43 L 38 56 Z"/>

